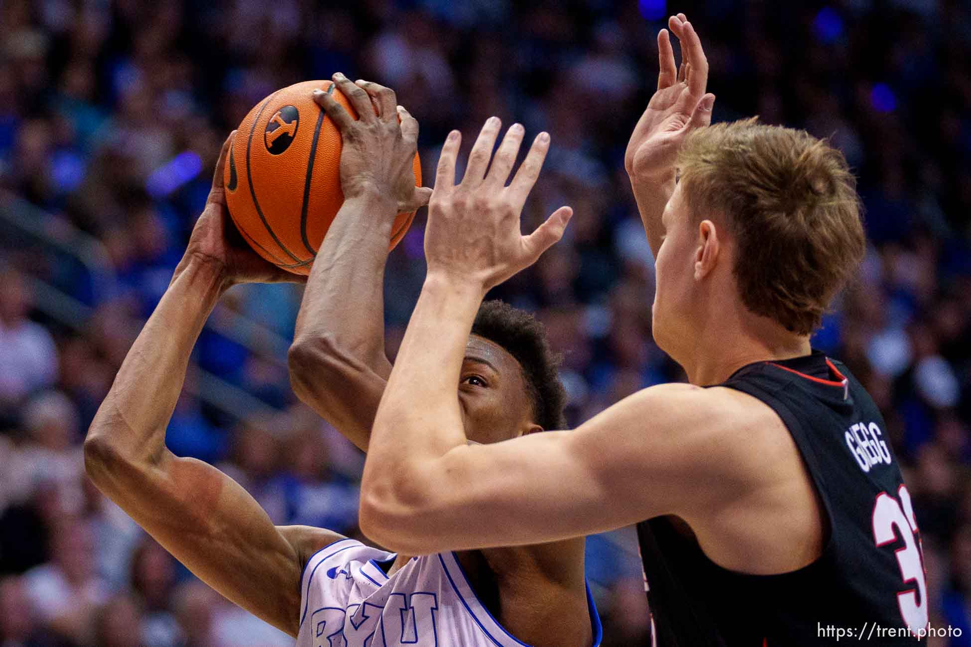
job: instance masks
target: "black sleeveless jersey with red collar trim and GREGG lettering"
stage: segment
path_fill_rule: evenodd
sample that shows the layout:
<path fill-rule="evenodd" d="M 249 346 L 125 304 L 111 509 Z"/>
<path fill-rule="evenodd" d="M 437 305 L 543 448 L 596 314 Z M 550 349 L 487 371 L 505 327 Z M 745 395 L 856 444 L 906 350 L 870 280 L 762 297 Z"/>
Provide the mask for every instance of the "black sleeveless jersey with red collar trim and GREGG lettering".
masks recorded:
<path fill-rule="evenodd" d="M 910 494 L 877 405 L 819 352 L 758 362 L 720 386 L 769 405 L 799 448 L 828 529 L 820 558 L 778 575 L 727 570 L 678 520 L 638 524 L 658 647 L 923 645 L 927 591 Z M 739 438 L 744 442 L 745 438 Z"/>

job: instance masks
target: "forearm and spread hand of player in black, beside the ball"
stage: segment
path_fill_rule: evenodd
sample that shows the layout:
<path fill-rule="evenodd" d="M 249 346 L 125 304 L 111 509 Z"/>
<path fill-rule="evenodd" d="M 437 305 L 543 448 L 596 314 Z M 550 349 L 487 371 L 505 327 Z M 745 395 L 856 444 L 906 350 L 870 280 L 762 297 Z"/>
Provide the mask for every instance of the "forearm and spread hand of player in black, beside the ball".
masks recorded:
<path fill-rule="evenodd" d="M 535 262 L 560 239 L 573 213 L 556 210 L 531 235 L 520 235 L 519 214 L 550 136 L 536 138 L 506 186 L 524 133 L 514 124 L 489 165 L 500 126 L 497 117 L 485 122 L 458 185 L 458 131 L 442 146 L 425 229 L 428 275 L 375 418 L 361 485 L 361 528 L 382 540 L 391 530 L 385 522 L 397 518 L 381 511 L 385 503 L 407 498 L 411 477 L 429 459 L 466 443 L 454 385 L 485 292 Z"/>

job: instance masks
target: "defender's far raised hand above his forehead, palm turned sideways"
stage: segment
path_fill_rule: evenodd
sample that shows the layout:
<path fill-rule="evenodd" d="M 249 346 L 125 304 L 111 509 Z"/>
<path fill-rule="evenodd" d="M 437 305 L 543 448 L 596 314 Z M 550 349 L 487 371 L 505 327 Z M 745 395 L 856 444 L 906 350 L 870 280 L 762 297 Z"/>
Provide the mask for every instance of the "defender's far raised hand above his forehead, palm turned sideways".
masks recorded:
<path fill-rule="evenodd" d="M 687 134 L 712 122 L 715 95 L 705 93 L 708 59 L 701 40 L 684 14 L 671 16 L 668 26 L 681 41 L 682 63 L 680 68 L 675 64 L 671 37 L 667 29 L 661 29 L 657 34 L 657 91 L 634 127 L 624 155 L 631 178 L 673 179 Z"/>

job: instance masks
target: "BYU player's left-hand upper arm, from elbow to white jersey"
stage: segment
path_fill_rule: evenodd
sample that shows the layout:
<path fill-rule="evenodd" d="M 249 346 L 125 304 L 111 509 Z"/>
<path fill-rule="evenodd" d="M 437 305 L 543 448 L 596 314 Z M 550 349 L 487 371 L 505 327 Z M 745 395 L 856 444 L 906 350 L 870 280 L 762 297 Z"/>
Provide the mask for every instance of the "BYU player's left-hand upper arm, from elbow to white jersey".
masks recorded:
<path fill-rule="evenodd" d="M 277 528 L 238 483 L 211 465 L 168 450 L 155 463 L 85 446 L 98 487 L 201 580 L 281 631 L 299 627 L 306 559 L 341 538 Z"/>

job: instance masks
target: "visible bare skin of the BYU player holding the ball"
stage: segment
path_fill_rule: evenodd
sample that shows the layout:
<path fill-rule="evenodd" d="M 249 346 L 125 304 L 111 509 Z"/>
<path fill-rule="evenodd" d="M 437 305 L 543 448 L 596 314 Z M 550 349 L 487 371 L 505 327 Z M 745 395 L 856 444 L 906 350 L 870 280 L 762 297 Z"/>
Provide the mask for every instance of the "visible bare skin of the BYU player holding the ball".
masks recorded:
<path fill-rule="evenodd" d="M 430 189 L 415 187 L 418 122 L 396 106 L 394 93 L 341 75 L 334 81 L 364 118 L 354 121 L 317 97 L 342 130 L 346 200 L 309 276 L 290 364 L 298 394 L 366 450 L 391 370 L 382 288 L 390 228 L 399 211 L 424 205 Z M 274 526 L 226 474 L 165 447 L 189 355 L 219 297 L 238 283 L 304 280 L 252 252 L 230 222 L 223 168 L 232 137 L 222 146 L 184 257 L 91 424 L 84 461 L 95 485 L 196 576 L 296 636 L 303 566 L 341 535 Z M 542 431 L 532 422 L 512 355 L 481 337 L 467 339 L 464 354 L 455 384 L 470 438 L 489 443 Z M 390 571 L 408 560 L 399 555 Z M 582 538 L 465 551 L 459 562 L 489 611 L 520 640 L 538 647 L 591 644 Z"/>

